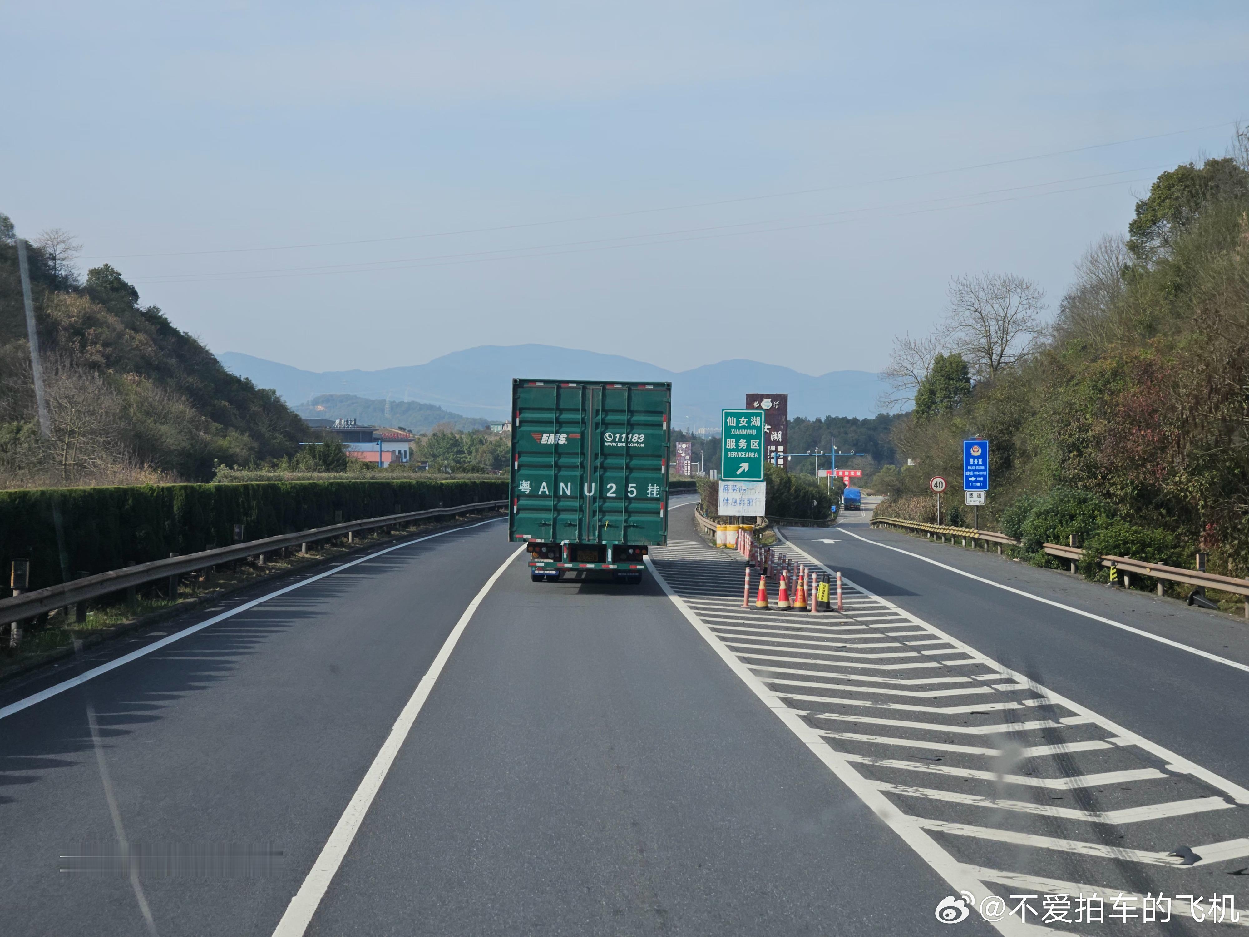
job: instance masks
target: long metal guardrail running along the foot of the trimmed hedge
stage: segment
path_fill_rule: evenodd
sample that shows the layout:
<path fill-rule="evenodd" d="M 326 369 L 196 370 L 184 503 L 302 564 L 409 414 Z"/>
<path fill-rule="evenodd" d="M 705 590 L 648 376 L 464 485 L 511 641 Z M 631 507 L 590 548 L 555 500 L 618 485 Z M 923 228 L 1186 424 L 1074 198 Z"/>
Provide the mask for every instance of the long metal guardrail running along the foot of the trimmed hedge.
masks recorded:
<path fill-rule="evenodd" d="M 506 507 L 507 503 L 507 498 L 502 498 L 500 501 L 476 501 L 471 505 L 432 507 L 425 511 L 407 511 L 405 513 L 392 513 L 383 517 L 368 517 L 362 521 L 346 521 L 345 523 L 335 523 L 328 527 L 315 527 L 312 530 L 299 531 L 296 533 L 284 533 L 277 537 L 266 537 L 265 540 L 251 540 L 245 543 L 235 543 L 234 546 L 205 550 L 199 553 L 187 553 L 186 556 L 175 556 L 169 560 L 154 560 L 151 562 L 139 563 L 137 566 L 127 566 L 124 570 L 100 572 L 95 576 L 84 576 L 80 580 L 65 582 L 59 586 L 47 586 L 46 588 L 39 588 L 20 596 L 0 598 L 0 625 L 7 625 L 14 621 L 30 618 L 36 615 L 42 615 L 44 612 L 50 612 L 54 608 L 62 608 L 76 602 L 85 602 L 90 598 L 99 598 L 100 596 L 106 596 L 112 592 L 120 592 L 124 588 L 132 588 L 149 582 L 167 580 L 174 576 L 181 576 L 186 572 L 195 572 L 197 570 L 207 568 L 209 566 L 217 566 L 234 560 L 244 560 L 249 556 L 262 556 L 265 553 L 271 553 L 292 546 L 297 546 L 304 550 L 309 543 L 313 543 L 318 540 L 341 537 L 360 530 L 391 527 L 400 523 L 407 523 L 408 521 L 420 521 L 427 517 L 447 517 L 457 513 L 468 513 L 471 511 L 483 511 L 492 507 Z"/>

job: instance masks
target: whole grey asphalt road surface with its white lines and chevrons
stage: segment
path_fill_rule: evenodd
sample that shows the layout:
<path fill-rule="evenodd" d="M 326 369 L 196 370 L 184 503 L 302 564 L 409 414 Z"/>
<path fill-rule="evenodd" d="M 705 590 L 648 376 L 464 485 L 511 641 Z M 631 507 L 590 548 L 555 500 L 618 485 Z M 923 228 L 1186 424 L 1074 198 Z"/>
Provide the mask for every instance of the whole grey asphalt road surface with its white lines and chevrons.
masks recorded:
<path fill-rule="evenodd" d="M 743 562 L 691 517 L 636 587 L 533 583 L 491 521 L 0 688 L 0 932 L 1030 933 L 1072 886 L 1249 906 L 1243 626 L 859 518 L 787 532 L 843 572 L 843 615 L 742 610 Z M 1018 893 L 1027 925 L 934 915 Z M 1218 927 L 1110 897 L 1050 926 Z"/>

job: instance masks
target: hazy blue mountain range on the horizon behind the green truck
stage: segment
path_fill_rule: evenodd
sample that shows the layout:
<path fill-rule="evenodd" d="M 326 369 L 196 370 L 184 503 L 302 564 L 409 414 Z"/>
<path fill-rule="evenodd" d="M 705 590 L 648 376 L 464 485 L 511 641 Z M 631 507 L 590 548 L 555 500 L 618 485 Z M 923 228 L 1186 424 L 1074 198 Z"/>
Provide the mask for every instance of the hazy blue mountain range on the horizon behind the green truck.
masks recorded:
<path fill-rule="evenodd" d="M 672 422 L 677 429 L 719 427 L 719 411 L 739 407 L 749 392 L 788 394 L 789 416 L 857 416 L 879 412 L 884 382 L 869 371 L 829 371 L 813 377 L 791 367 L 732 360 L 689 371 L 668 371 L 644 361 L 552 345 L 480 345 L 425 365 L 381 371 L 304 371 L 237 351 L 217 356 L 227 370 L 272 387 L 287 404 L 322 394 L 371 400 L 422 401 L 486 420 L 503 420 L 512 377 L 672 381 Z M 407 426 L 407 424 L 405 424 Z"/>

